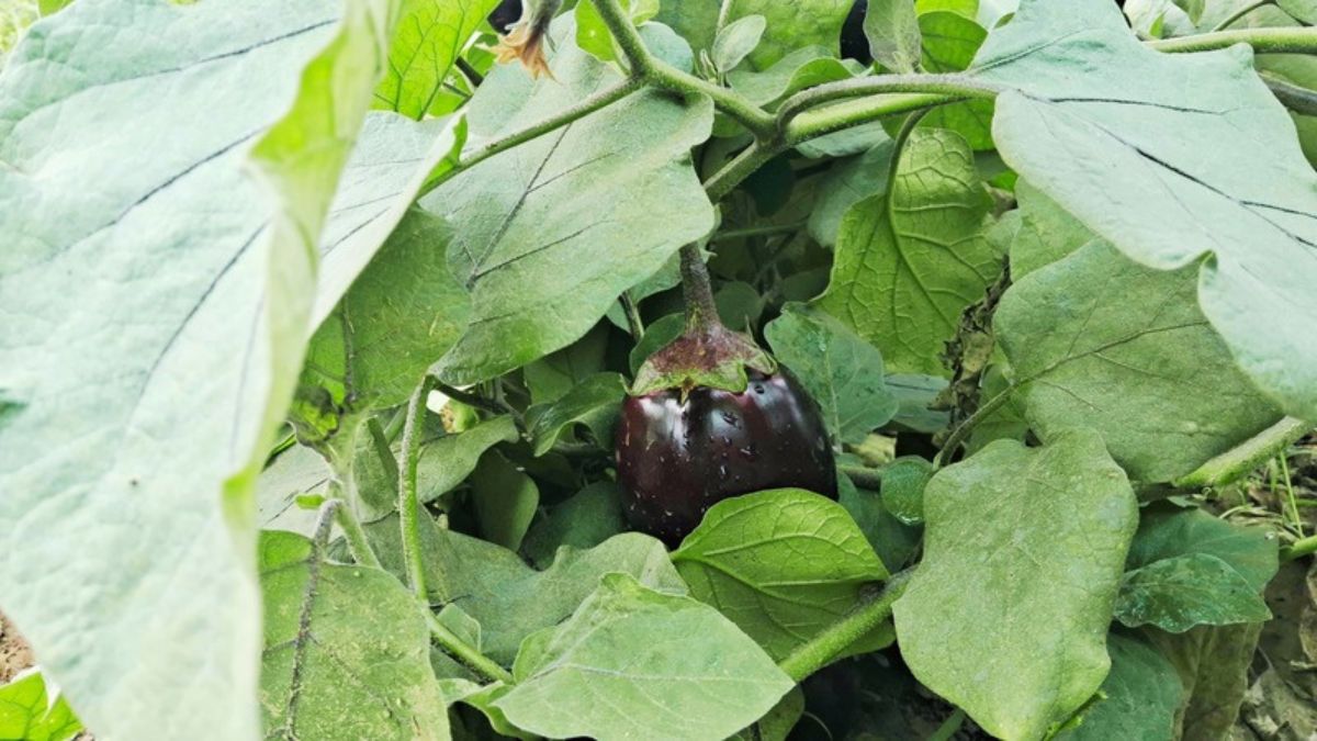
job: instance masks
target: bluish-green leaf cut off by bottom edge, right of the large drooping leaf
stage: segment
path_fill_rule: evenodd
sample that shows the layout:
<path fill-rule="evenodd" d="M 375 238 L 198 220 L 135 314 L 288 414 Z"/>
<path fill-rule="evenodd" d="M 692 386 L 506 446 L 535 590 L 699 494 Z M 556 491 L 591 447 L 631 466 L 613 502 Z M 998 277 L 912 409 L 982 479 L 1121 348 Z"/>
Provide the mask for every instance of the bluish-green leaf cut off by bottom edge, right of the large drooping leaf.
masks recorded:
<path fill-rule="evenodd" d="M 1171 662 L 1146 642 L 1119 633 L 1106 637 L 1106 651 L 1112 657 L 1112 672 L 1102 682 L 1102 697 L 1084 713 L 1077 726 L 1062 730 L 1055 738 L 1175 738 L 1175 711 L 1184 687 Z"/>

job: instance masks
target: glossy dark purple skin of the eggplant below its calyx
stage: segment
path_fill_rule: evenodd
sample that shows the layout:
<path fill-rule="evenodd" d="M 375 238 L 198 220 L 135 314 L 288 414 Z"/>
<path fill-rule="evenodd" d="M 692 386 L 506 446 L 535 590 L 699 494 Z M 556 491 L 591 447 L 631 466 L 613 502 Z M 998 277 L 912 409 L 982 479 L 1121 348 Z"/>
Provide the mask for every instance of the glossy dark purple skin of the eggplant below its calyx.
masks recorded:
<path fill-rule="evenodd" d="M 836 465 L 818 405 L 778 369 L 748 370 L 741 393 L 695 388 L 627 397 L 618 483 L 631 526 L 676 546 L 710 506 L 739 494 L 809 489 L 836 498 Z"/>

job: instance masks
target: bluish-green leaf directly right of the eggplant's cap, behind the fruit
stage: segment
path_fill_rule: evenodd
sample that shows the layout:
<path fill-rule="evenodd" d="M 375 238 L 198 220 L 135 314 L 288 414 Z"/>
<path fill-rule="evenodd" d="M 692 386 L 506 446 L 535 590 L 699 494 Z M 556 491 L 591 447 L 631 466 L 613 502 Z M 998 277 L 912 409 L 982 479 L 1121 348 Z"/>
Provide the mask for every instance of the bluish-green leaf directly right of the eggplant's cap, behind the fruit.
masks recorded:
<path fill-rule="evenodd" d="M 836 319 L 788 305 L 764 335 L 842 442 L 863 442 L 897 413 L 897 400 L 882 376 L 882 353 Z"/>

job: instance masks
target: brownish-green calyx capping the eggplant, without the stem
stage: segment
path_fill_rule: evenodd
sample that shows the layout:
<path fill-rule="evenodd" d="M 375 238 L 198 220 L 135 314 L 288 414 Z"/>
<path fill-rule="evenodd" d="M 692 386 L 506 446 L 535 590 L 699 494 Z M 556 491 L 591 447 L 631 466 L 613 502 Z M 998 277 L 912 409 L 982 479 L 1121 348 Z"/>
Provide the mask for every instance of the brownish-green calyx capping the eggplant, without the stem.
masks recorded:
<path fill-rule="evenodd" d="M 747 368 L 770 376 L 777 361 L 755 340 L 720 323 L 699 323 L 669 343 L 636 372 L 631 396 L 680 389 L 682 398 L 697 386 L 741 393 L 749 385 Z"/>

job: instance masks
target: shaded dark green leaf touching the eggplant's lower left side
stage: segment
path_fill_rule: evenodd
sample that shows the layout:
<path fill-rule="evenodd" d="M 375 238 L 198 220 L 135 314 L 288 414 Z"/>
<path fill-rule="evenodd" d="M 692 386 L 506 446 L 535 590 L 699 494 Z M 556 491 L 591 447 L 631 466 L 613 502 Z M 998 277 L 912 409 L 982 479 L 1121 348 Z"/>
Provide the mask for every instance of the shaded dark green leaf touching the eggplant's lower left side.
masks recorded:
<path fill-rule="evenodd" d="M 593 548 L 626 529 L 622 490 L 611 481 L 595 481 L 536 521 L 522 550 L 537 568 L 545 568 L 562 546 Z"/>

